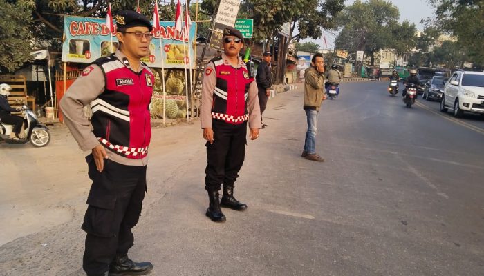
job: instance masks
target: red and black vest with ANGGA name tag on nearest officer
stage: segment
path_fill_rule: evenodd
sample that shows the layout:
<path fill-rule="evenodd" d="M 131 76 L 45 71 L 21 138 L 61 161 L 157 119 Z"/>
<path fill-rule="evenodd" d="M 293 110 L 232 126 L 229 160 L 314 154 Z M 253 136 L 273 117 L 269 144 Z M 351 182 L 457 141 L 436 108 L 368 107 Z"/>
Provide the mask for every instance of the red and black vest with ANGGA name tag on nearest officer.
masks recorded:
<path fill-rule="evenodd" d="M 153 73 L 148 68 L 133 72 L 115 55 L 93 63 L 100 66 L 106 81 L 104 92 L 91 102 L 94 135 L 118 155 L 131 159 L 146 157 L 151 139 L 149 103 Z"/>

